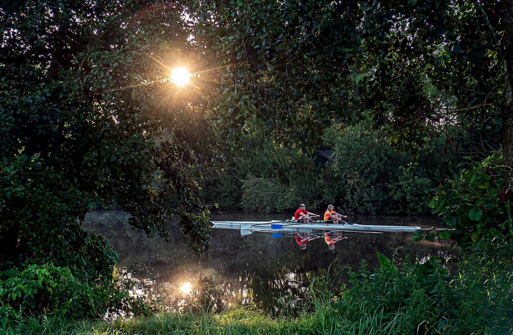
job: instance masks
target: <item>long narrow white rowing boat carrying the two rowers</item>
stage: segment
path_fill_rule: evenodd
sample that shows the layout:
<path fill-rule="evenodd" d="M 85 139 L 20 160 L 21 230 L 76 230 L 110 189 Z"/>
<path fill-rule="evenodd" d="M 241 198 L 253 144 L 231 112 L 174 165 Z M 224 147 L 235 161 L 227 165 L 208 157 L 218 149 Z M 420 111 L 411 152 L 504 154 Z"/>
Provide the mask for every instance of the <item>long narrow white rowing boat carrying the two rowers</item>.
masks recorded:
<path fill-rule="evenodd" d="M 342 223 L 341 223 L 342 222 Z M 351 222 L 339 220 L 333 224 L 328 221 L 295 222 L 288 221 L 212 221 L 212 228 L 240 229 L 241 235 L 248 235 L 253 232 L 261 233 L 315 233 L 316 231 L 344 231 L 344 232 L 415 232 L 421 227 L 410 226 L 376 226 L 358 225 Z"/>

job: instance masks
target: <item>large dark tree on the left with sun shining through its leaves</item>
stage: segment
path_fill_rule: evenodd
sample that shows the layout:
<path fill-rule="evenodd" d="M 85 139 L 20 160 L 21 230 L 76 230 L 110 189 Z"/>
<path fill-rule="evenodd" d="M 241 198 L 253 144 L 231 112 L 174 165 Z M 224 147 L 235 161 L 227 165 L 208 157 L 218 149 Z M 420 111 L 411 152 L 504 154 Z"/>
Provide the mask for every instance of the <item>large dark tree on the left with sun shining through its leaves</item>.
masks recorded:
<path fill-rule="evenodd" d="M 117 255 L 82 230 L 116 203 L 148 236 L 179 216 L 192 251 L 209 248 L 208 210 L 189 167 L 223 159 L 226 127 L 202 95 L 214 39 L 195 34 L 193 4 L 12 1 L 0 27 L 0 271 L 69 267 L 107 283 Z M 188 12 L 189 11 L 189 12 Z M 177 64 L 197 72 L 177 87 Z M 201 80 L 200 77 L 201 76 Z M 215 75 L 214 75 L 215 76 Z"/>

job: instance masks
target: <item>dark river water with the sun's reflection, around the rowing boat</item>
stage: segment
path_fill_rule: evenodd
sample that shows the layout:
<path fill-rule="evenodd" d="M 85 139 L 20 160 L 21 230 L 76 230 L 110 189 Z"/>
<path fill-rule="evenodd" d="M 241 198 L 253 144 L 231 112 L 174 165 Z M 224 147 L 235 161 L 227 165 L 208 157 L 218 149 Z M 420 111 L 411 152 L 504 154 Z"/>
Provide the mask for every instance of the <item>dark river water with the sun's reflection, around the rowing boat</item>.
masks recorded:
<path fill-rule="evenodd" d="M 288 217 L 244 212 L 211 215 L 212 220 L 235 221 Z M 436 218 L 419 216 L 350 216 L 348 219 L 370 225 L 431 227 L 439 224 Z M 190 308 L 199 296 L 206 296 L 207 303 L 215 309 L 255 304 L 272 311 L 280 297 L 292 306 L 308 299 L 312 278 L 328 268 L 332 273 L 340 272 L 336 277 L 338 284 L 348 279 L 347 270 L 338 271 L 344 266 L 357 270 L 365 259 L 368 270 L 379 268 L 377 252 L 400 265 L 407 255 L 412 262 L 422 263 L 431 256 L 449 258 L 458 251 L 450 248 L 451 241 L 414 243 L 412 233 L 345 233 L 348 238 L 338 241 L 334 250 L 328 249 L 324 238 L 309 241 L 307 248 L 301 250 L 293 238 L 241 236 L 239 230 L 214 229 L 211 250 L 200 259 L 187 251 L 188 237 L 173 224 L 169 225 L 169 243 L 162 238 L 148 239 L 144 233 L 132 230 L 127 224 L 127 214 L 122 211 L 93 211 L 87 215 L 84 226 L 105 236 L 120 255 L 120 275 L 136 282 L 133 294 L 169 310 Z M 191 291 L 187 292 L 189 284 Z"/>

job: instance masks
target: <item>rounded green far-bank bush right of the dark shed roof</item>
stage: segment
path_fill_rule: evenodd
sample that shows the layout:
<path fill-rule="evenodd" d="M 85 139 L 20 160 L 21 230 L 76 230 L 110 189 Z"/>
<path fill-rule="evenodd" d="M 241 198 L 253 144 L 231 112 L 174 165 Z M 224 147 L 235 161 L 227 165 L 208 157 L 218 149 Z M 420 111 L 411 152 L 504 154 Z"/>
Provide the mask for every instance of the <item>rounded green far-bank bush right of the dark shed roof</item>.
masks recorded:
<path fill-rule="evenodd" d="M 458 134 L 457 129 L 451 132 Z M 332 126 L 324 138 L 333 152 L 325 175 L 331 175 L 329 182 L 337 187 L 323 197 L 349 213 L 427 214 L 424 189 L 452 176 L 462 161 L 457 150 L 444 149 L 447 140 L 433 138 L 426 140 L 412 164 L 411 154 L 395 151 L 367 122 L 343 129 Z"/>

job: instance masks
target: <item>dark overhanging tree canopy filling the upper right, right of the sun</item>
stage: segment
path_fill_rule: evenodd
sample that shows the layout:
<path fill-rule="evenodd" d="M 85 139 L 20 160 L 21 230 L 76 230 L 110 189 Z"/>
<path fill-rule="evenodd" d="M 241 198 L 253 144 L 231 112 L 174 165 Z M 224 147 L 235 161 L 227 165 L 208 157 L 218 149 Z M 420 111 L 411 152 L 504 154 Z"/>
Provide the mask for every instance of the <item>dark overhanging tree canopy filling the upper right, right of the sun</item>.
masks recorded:
<path fill-rule="evenodd" d="M 386 129 L 392 146 L 415 154 L 426 137 L 443 135 L 447 124 L 472 130 L 497 123 L 509 199 L 511 0 L 241 0 L 220 8 L 220 22 L 230 23 L 223 26 L 239 24 L 222 37 L 218 51 L 230 63 L 225 99 L 249 103 L 271 132 L 291 141 L 303 133 L 311 148 L 326 125 L 368 118 Z M 238 61 L 243 63 L 234 66 Z M 249 109 L 232 114 L 248 118 Z M 446 144 L 458 145 L 450 138 Z M 509 231 L 504 215 L 492 221 L 506 222 Z"/>

